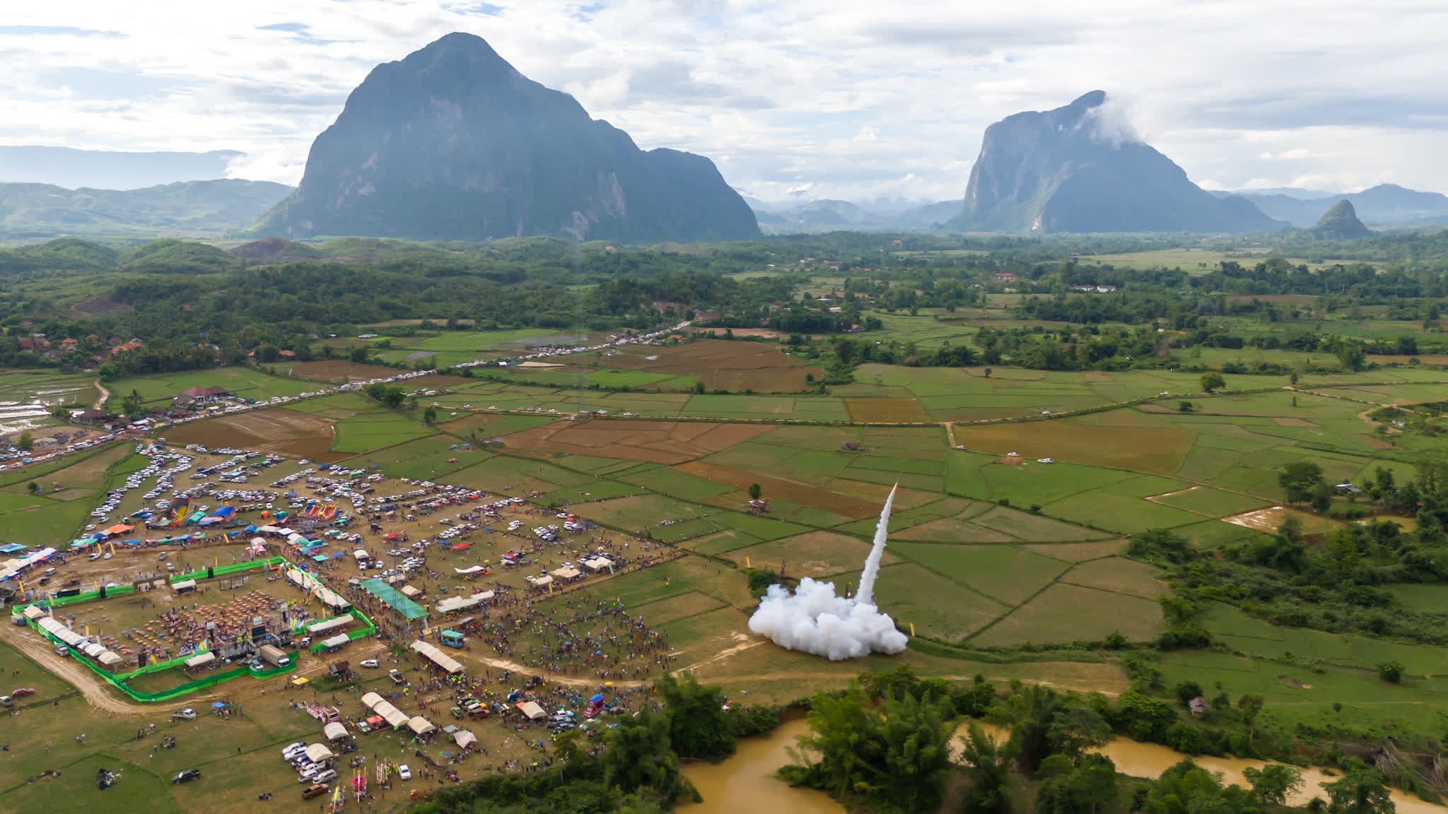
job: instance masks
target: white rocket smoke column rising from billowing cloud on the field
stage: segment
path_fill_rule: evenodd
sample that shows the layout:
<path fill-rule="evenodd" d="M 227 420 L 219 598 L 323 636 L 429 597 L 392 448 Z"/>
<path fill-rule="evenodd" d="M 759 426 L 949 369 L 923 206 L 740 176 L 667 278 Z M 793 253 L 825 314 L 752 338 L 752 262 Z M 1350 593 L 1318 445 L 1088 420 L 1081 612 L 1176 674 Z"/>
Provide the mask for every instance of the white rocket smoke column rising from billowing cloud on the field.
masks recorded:
<path fill-rule="evenodd" d="M 750 617 L 749 629 L 788 650 L 804 650 L 831 660 L 904 650 L 908 639 L 895 630 L 895 620 L 873 604 L 875 578 L 885 556 L 893 503 L 892 488 L 875 530 L 875 546 L 860 574 L 860 592 L 854 598 L 837 597 L 833 582 L 815 582 L 808 576 L 799 581 L 794 594 L 783 585 L 770 585 Z"/>

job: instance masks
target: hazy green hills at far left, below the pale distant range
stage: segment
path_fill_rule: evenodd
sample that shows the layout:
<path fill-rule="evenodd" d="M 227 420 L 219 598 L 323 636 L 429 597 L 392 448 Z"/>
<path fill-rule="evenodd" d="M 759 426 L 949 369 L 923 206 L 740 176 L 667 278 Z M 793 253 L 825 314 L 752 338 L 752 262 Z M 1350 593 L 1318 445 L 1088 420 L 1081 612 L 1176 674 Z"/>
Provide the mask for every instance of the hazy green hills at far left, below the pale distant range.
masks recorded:
<path fill-rule="evenodd" d="M 269 181 L 181 181 L 140 190 L 0 184 L 0 238 L 214 235 L 256 222 L 291 187 Z"/>

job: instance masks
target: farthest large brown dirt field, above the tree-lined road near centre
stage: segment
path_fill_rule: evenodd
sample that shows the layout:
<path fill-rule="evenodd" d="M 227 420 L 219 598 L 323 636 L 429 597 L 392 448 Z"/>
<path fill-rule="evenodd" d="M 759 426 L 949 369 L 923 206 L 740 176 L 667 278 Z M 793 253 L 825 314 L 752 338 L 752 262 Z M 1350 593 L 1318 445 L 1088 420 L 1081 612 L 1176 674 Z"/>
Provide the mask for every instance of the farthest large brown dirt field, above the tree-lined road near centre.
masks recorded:
<path fill-rule="evenodd" d="M 805 374 L 815 379 L 824 371 L 791 359 L 778 345 L 701 339 L 673 348 L 626 345 L 599 359 L 599 368 L 626 368 L 673 375 L 694 375 L 707 390 L 754 393 L 798 393 L 805 390 Z"/>

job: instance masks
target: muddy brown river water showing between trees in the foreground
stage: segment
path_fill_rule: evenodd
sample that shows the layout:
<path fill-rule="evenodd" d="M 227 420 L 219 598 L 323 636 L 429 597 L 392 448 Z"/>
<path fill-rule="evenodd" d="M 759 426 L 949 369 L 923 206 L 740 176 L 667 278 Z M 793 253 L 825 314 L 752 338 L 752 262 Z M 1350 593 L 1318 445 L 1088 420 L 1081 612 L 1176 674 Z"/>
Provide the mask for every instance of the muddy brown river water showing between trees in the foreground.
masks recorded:
<path fill-rule="evenodd" d="M 988 734 L 1002 737 L 1003 733 L 990 726 L 983 726 Z M 830 798 L 830 795 L 804 788 L 789 788 L 789 784 L 775 779 L 775 771 L 789 763 L 785 749 L 795 744 L 795 737 L 805 734 L 809 724 L 804 720 L 794 720 L 782 724 L 769 737 L 750 737 L 738 742 L 738 752 L 723 763 L 691 763 L 683 768 L 683 776 L 699 789 L 704 802 L 681 805 L 686 814 L 737 814 L 740 811 L 789 811 L 791 814 L 843 814 L 844 807 Z M 957 734 L 959 740 L 963 734 Z M 1118 737 L 1106 746 L 1098 749 L 1111 758 L 1116 771 L 1134 778 L 1156 778 L 1161 772 L 1179 763 L 1186 755 L 1173 752 L 1157 743 L 1138 743 Z M 1221 772 L 1222 782 L 1237 784 L 1247 788 L 1250 784 L 1242 779 L 1242 769 L 1261 768 L 1267 760 L 1242 760 L 1237 758 L 1193 758 L 1197 766 L 1209 772 Z M 1290 802 L 1292 805 L 1306 805 L 1313 797 L 1326 800 L 1326 792 L 1319 784 L 1332 782 L 1338 778 L 1323 775 L 1321 769 L 1302 769 L 1303 786 Z M 1393 789 L 1393 802 L 1399 814 L 1445 814 L 1448 808 L 1434 805 Z"/>

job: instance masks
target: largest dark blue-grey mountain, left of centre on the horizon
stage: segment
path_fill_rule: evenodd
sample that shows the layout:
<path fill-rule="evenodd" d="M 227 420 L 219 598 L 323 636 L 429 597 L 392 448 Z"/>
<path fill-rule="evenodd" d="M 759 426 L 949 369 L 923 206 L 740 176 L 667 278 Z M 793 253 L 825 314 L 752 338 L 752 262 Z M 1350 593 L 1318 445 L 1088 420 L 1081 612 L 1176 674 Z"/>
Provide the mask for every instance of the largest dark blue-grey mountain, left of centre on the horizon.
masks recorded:
<path fill-rule="evenodd" d="M 708 158 L 644 152 L 481 38 L 450 33 L 372 70 L 256 232 L 660 242 L 759 226 Z"/>

